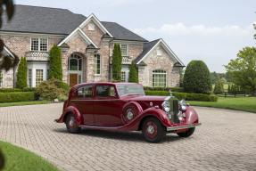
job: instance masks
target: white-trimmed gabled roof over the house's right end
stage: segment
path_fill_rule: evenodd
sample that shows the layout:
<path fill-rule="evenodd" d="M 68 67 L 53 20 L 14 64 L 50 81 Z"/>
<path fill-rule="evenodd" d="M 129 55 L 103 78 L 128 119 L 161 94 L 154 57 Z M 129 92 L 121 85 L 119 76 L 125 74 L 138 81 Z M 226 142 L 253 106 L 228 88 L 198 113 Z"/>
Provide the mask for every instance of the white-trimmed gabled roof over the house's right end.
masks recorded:
<path fill-rule="evenodd" d="M 177 65 L 177 62 L 180 64 L 181 67 L 184 67 L 184 63 L 182 61 L 180 61 L 178 59 L 178 56 L 173 53 L 171 51 L 171 49 L 169 48 L 169 46 L 162 40 L 162 39 L 157 39 L 157 40 L 154 40 L 152 42 L 149 42 L 149 43 L 146 43 L 145 45 L 143 45 L 143 53 L 141 53 L 137 58 L 136 60 L 134 61 L 135 64 L 139 64 L 141 61 L 144 61 L 145 58 L 150 55 L 153 50 L 158 46 L 158 45 L 161 45 L 164 50 L 169 53 L 169 55 L 173 58 L 174 61 L 176 61 L 176 65 Z"/>

